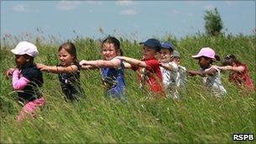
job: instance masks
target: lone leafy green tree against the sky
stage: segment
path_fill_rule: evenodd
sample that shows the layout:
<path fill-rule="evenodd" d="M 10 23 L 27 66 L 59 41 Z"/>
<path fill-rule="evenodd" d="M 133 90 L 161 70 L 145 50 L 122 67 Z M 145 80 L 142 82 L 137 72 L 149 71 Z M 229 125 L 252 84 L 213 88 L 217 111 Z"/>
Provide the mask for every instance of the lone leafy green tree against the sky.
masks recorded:
<path fill-rule="evenodd" d="M 215 36 L 221 33 L 222 20 L 217 8 L 205 11 L 205 31 L 207 35 Z"/>

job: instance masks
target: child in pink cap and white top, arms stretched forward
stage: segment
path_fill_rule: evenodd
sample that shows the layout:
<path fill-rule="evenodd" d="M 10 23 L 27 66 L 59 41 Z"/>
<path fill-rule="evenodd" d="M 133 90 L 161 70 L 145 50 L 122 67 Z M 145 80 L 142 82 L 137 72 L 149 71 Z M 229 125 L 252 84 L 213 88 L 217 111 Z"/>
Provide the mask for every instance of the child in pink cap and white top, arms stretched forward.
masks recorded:
<path fill-rule="evenodd" d="M 221 84 L 221 72 L 216 67 L 212 67 L 213 61 L 218 60 L 215 51 L 210 47 L 204 47 L 200 52 L 192 56 L 197 59 L 200 64 L 200 71 L 188 71 L 191 76 L 200 75 L 203 77 L 203 83 L 217 98 L 227 93 L 226 89 Z"/>

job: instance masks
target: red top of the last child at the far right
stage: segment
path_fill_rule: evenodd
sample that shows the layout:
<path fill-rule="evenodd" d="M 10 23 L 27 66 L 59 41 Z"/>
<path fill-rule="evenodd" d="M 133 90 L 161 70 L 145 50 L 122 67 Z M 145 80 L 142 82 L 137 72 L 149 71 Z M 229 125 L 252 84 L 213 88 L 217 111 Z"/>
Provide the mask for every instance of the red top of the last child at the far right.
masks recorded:
<path fill-rule="evenodd" d="M 253 81 L 248 73 L 248 67 L 245 64 L 236 65 L 234 67 L 243 67 L 243 72 L 230 72 L 229 81 L 238 86 L 245 85 L 248 89 L 253 89 Z"/>

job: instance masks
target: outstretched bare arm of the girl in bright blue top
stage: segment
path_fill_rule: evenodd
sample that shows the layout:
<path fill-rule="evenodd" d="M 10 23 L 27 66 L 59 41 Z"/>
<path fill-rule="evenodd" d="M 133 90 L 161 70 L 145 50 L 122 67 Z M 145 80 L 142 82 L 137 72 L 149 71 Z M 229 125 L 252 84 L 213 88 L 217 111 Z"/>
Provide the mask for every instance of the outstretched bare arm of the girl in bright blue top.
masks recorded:
<path fill-rule="evenodd" d="M 91 66 L 91 67 L 120 67 L 120 59 L 114 58 L 110 61 L 97 60 L 97 61 L 80 61 L 79 64 L 82 67 Z"/>

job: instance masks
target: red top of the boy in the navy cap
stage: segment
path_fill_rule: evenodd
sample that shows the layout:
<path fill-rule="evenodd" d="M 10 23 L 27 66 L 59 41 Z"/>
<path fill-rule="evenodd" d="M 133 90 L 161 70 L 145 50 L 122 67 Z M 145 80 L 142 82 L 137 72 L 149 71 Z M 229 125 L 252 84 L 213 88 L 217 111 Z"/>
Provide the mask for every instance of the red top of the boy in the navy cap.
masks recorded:
<path fill-rule="evenodd" d="M 153 93 L 160 93 L 164 96 L 163 77 L 159 61 L 156 58 L 142 59 L 141 61 L 146 62 L 146 68 L 131 66 L 134 71 L 138 70 L 138 80 L 141 86 L 146 85 Z"/>

